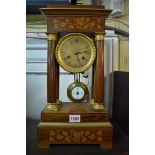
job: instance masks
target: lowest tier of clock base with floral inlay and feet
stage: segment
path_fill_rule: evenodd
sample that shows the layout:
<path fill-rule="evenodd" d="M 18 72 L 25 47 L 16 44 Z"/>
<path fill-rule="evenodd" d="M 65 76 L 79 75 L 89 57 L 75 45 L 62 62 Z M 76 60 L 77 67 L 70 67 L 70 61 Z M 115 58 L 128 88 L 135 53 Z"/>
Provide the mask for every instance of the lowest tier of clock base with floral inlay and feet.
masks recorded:
<path fill-rule="evenodd" d="M 38 125 L 38 146 L 52 144 L 100 144 L 112 148 L 112 125 L 109 122 L 41 122 Z"/>

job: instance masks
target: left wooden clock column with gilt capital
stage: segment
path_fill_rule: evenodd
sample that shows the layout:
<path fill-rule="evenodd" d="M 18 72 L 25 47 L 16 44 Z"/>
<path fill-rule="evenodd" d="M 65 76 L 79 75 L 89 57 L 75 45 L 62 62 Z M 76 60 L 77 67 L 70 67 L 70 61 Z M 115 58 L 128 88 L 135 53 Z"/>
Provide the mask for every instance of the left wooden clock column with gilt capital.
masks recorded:
<path fill-rule="evenodd" d="M 58 33 L 48 34 L 48 60 L 47 60 L 47 102 L 56 103 L 59 99 L 59 65 L 55 59 L 55 47 Z"/>

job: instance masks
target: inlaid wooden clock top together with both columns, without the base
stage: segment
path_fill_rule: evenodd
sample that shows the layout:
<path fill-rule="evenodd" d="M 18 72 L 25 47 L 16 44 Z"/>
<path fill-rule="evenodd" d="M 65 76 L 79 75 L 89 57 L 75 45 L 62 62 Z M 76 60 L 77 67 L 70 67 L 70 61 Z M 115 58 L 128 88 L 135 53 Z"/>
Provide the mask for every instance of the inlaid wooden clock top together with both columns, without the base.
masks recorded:
<path fill-rule="evenodd" d="M 104 102 L 104 33 L 105 19 L 112 10 L 101 5 L 48 5 L 40 11 L 47 19 L 48 67 L 47 101 L 56 103 L 59 99 L 59 65 L 55 59 L 58 32 L 95 32 L 97 49 L 93 65 L 93 93 L 95 103 Z"/>

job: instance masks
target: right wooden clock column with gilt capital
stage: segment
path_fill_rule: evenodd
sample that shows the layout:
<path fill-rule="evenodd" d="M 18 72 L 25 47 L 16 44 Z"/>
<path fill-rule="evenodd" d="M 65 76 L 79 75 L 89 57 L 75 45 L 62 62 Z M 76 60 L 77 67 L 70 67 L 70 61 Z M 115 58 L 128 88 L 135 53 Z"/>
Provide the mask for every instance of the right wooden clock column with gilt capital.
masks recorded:
<path fill-rule="evenodd" d="M 93 99 L 94 103 L 104 102 L 104 32 L 95 33 L 96 63 L 94 63 Z"/>

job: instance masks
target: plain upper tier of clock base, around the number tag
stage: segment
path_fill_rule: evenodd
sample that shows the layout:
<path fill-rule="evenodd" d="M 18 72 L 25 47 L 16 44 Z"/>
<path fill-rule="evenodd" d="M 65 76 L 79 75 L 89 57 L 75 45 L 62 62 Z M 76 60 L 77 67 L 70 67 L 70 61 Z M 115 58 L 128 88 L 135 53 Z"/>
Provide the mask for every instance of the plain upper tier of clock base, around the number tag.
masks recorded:
<path fill-rule="evenodd" d="M 89 103 L 62 103 L 58 111 L 51 111 L 48 104 L 41 112 L 42 122 L 69 122 L 69 115 L 79 114 L 81 122 L 108 122 L 109 113 L 106 109 L 94 111 Z"/>

